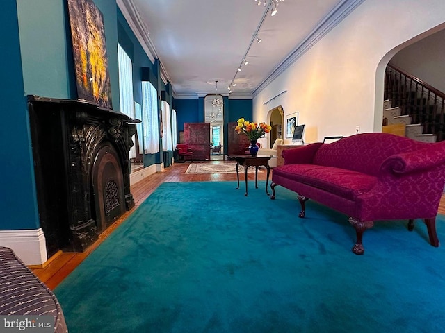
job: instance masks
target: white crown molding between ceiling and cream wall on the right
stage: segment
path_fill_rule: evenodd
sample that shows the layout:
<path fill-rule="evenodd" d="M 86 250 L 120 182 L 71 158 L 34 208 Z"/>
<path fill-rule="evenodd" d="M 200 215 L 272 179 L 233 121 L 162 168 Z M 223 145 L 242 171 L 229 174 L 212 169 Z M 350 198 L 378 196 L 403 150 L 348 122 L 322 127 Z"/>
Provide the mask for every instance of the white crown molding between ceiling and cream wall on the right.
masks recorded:
<path fill-rule="evenodd" d="M 266 79 L 261 82 L 258 87 L 252 92 L 253 96 L 257 96 L 264 88 L 277 78 L 283 71 L 288 69 L 294 62 L 303 56 L 309 49 L 312 48 L 319 40 L 321 40 L 327 33 L 329 33 L 337 24 L 343 21 L 346 16 L 350 14 L 355 8 L 361 5 L 365 0 L 343 0 L 337 4 L 316 27 L 305 37 L 305 39 L 296 46 L 293 51 L 280 62 L 275 69 L 273 69 Z"/>

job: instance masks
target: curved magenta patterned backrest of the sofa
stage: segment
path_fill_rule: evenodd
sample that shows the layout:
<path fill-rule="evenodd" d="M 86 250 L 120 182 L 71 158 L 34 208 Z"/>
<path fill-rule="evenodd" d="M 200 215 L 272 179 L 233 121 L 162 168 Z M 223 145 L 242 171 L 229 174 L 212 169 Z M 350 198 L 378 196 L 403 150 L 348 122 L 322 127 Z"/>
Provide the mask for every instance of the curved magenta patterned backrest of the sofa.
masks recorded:
<path fill-rule="evenodd" d="M 322 144 L 314 164 L 348 169 L 377 176 L 387 157 L 415 151 L 429 144 L 389 133 L 363 133 L 345 137 L 332 144 Z"/>

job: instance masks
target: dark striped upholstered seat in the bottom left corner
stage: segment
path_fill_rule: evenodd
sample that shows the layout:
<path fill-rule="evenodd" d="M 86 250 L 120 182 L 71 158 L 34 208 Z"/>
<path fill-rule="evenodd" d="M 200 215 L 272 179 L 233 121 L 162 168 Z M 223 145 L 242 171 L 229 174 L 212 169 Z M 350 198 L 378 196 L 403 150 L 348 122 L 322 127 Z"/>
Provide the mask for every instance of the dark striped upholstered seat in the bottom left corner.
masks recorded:
<path fill-rule="evenodd" d="M 52 316 L 54 332 L 68 332 L 62 308 L 54 293 L 13 250 L 3 246 L 0 246 L 0 315 Z"/>

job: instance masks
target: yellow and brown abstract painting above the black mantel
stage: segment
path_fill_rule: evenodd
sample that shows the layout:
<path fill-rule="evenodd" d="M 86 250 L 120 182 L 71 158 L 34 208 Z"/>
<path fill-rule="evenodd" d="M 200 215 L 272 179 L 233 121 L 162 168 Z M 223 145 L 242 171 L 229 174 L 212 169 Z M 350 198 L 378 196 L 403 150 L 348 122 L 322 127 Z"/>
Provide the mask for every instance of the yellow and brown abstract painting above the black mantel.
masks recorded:
<path fill-rule="evenodd" d="M 111 85 L 102 12 L 92 0 L 67 0 L 77 96 L 111 109 Z"/>

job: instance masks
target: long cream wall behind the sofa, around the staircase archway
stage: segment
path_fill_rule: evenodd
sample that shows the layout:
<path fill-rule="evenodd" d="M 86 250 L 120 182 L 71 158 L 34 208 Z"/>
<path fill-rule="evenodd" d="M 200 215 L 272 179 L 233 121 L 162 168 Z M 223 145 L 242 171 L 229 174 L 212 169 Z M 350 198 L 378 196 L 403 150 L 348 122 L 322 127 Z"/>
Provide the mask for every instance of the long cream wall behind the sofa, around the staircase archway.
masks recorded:
<path fill-rule="evenodd" d="M 268 110 L 282 105 L 284 119 L 300 112 L 305 142 L 353 135 L 356 126 L 361 133 L 380 131 L 387 62 L 425 37 L 420 34 L 444 24 L 444 13 L 443 0 L 366 0 L 254 96 L 254 121 L 268 121 Z"/>

